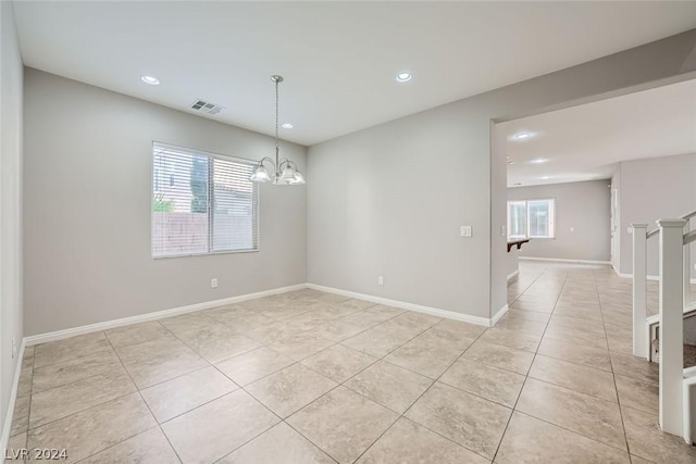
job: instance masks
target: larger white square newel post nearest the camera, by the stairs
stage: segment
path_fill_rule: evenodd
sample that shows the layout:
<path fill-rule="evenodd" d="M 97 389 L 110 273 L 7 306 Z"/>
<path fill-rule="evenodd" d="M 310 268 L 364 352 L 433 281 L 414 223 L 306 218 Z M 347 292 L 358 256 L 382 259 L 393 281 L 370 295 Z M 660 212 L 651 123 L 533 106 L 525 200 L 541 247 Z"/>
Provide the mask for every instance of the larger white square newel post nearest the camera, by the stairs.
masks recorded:
<path fill-rule="evenodd" d="M 684 225 L 659 220 L 660 227 L 660 427 L 674 435 L 683 428 L 684 378 Z"/>

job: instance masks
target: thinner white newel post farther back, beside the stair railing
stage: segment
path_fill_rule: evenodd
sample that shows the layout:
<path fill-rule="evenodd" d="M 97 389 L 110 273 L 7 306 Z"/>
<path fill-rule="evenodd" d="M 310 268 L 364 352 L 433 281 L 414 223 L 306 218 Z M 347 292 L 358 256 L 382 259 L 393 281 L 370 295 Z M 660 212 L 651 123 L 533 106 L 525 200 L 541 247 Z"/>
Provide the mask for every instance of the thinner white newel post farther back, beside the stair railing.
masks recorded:
<path fill-rule="evenodd" d="M 646 234 L 647 224 L 631 224 L 633 227 L 633 355 L 649 361 L 649 337 L 646 329 Z"/>

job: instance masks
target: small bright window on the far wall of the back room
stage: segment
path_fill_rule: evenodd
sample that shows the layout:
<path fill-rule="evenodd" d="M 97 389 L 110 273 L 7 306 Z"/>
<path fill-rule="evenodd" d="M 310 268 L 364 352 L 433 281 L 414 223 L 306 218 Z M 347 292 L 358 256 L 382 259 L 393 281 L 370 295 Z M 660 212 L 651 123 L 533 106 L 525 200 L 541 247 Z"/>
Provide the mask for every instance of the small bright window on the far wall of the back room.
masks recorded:
<path fill-rule="evenodd" d="M 508 201 L 508 240 L 554 238 L 556 201 Z"/>

